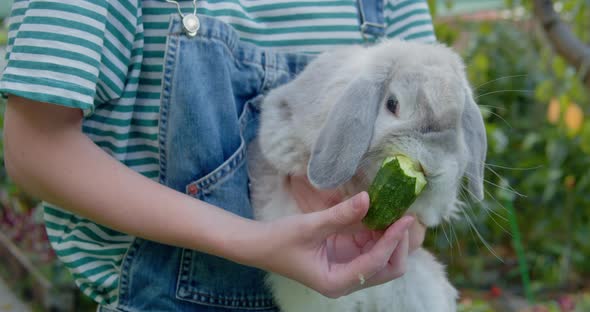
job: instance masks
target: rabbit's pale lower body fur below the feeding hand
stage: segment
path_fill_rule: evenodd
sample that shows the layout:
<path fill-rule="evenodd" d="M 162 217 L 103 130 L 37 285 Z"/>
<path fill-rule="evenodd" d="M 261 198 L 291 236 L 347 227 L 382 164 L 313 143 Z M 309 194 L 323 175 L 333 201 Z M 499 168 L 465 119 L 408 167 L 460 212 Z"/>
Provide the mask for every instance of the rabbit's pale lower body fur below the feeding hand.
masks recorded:
<path fill-rule="evenodd" d="M 408 257 L 407 272 L 389 283 L 338 299 L 326 298 L 301 284 L 272 274 L 268 282 L 284 312 L 456 311 L 457 291 L 443 267 L 423 249 Z"/>

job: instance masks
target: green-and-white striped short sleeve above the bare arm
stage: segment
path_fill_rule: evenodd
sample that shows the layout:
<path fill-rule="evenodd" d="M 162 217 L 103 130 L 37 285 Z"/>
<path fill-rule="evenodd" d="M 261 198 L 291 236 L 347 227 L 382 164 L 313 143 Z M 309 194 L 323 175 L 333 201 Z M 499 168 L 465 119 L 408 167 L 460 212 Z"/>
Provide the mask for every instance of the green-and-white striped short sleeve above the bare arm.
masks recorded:
<path fill-rule="evenodd" d="M 80 108 L 120 97 L 133 48 L 122 1 L 15 1 L 0 92 Z"/>

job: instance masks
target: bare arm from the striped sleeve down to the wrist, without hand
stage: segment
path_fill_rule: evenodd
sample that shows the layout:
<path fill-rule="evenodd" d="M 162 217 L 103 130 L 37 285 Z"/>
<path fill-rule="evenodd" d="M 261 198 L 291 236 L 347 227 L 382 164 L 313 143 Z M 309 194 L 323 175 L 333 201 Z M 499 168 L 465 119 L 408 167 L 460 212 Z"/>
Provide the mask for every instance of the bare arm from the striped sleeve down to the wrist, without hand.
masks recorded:
<path fill-rule="evenodd" d="M 250 262 L 259 223 L 166 188 L 125 167 L 80 131 L 79 110 L 11 97 L 5 162 L 27 192 L 134 236 Z M 253 245 L 253 244 L 250 244 Z M 240 248 L 238 248 L 240 247 Z"/>

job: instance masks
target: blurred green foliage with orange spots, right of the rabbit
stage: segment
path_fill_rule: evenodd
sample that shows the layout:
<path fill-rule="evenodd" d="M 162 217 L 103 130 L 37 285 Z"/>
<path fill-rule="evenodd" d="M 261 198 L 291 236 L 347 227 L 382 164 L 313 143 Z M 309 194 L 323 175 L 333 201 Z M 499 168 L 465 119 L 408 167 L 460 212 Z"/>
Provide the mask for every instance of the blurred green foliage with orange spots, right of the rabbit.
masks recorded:
<path fill-rule="evenodd" d="M 590 18 L 578 16 L 587 17 L 589 8 L 579 2 L 563 1 L 562 14 L 572 16 L 568 20 L 573 28 L 588 29 Z M 529 1 L 513 5 L 520 4 L 530 6 Z M 499 284 L 522 291 L 505 208 L 510 203 L 516 209 L 533 290 L 581 284 L 590 277 L 590 121 L 584 118 L 590 108 L 588 89 L 527 21 L 436 28 L 443 34 L 439 40 L 454 40 L 459 33 L 468 36 L 462 52 L 486 119 L 489 150 L 486 199 L 468 209 L 465 218 L 503 262 L 483 247 L 469 222 L 438 229 L 428 243 L 448 255 L 453 280 L 459 284 Z"/>

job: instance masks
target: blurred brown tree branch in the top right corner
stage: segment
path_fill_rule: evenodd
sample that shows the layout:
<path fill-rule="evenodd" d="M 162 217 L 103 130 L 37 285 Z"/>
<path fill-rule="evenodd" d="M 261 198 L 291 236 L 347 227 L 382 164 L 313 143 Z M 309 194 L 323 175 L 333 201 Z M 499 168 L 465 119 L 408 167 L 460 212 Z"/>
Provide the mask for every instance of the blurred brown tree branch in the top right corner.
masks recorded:
<path fill-rule="evenodd" d="M 590 47 L 574 35 L 553 9 L 551 0 L 534 0 L 537 20 L 543 26 L 551 45 L 561 57 L 580 71 L 582 81 L 590 88 Z"/>

